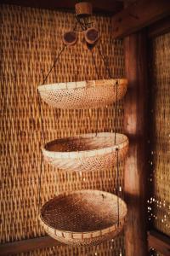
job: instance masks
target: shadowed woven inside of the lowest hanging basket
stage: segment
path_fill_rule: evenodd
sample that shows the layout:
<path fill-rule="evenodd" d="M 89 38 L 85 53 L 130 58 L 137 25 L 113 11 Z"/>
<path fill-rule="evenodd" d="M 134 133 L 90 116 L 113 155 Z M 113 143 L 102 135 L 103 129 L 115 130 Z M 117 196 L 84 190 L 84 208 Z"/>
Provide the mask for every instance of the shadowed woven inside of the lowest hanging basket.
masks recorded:
<path fill-rule="evenodd" d="M 110 196 L 107 196 L 110 195 Z M 126 205 L 119 199 L 120 219 Z M 117 223 L 117 197 L 108 193 L 79 193 L 55 197 L 42 207 L 42 220 L 56 230 L 88 232 L 103 230 Z"/>

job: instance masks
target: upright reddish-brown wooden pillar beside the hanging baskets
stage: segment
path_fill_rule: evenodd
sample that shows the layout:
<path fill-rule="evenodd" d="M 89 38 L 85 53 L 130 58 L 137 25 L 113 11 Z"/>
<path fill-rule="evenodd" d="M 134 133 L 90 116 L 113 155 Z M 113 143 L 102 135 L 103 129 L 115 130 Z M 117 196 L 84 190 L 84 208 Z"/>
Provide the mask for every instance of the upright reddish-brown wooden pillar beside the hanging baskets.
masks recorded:
<path fill-rule="evenodd" d="M 125 230 L 127 256 L 148 255 L 147 246 L 147 59 L 144 31 L 124 39 L 126 78 L 125 134 L 130 148 L 125 164 L 128 216 Z"/>

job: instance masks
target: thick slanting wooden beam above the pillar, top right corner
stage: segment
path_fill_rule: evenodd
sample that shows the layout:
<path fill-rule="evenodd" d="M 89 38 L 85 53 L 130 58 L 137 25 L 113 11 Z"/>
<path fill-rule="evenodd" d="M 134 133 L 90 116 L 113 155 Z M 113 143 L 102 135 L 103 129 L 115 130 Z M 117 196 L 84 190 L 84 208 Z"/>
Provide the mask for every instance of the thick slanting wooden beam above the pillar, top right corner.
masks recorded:
<path fill-rule="evenodd" d="M 112 17 L 113 38 L 124 38 L 170 15 L 168 0 L 141 0 Z"/>

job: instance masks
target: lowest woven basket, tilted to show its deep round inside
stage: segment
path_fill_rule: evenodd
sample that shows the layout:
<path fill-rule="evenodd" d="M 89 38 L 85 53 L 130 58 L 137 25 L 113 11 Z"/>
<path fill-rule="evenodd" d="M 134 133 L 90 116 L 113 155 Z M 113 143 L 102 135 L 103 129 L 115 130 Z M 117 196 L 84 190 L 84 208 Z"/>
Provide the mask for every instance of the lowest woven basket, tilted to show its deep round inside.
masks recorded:
<path fill-rule="evenodd" d="M 48 235 L 58 241 L 89 246 L 117 236 L 126 216 L 127 206 L 121 198 L 88 189 L 59 195 L 46 202 L 40 212 L 40 222 Z"/>

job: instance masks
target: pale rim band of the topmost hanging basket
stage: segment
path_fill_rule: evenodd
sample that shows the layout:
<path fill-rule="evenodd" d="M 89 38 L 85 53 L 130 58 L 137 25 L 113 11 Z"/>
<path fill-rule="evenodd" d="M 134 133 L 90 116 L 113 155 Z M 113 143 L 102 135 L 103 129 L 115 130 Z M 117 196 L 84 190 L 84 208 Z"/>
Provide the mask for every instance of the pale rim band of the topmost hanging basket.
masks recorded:
<path fill-rule="evenodd" d="M 102 83 L 98 84 L 96 83 Z M 90 88 L 90 87 L 100 87 L 100 86 L 108 86 L 108 85 L 116 85 L 118 81 L 118 85 L 126 84 L 127 79 L 97 79 L 97 80 L 84 80 L 77 82 L 65 82 L 65 83 L 54 83 L 54 84 L 42 84 L 38 86 L 38 91 L 48 91 L 48 90 L 72 90 L 72 89 L 80 89 L 80 88 Z M 107 84 L 105 84 L 107 83 Z M 108 84 L 109 83 L 109 84 Z"/>

